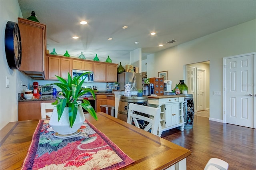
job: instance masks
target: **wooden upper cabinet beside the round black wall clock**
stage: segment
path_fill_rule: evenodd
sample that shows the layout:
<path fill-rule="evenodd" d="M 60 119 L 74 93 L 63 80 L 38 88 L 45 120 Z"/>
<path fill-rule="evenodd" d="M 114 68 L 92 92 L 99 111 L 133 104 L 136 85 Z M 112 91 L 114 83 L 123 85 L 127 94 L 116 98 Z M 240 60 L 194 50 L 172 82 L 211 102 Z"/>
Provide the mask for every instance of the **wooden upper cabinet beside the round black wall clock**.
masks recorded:
<path fill-rule="evenodd" d="M 45 77 L 46 25 L 18 18 L 22 41 L 22 60 L 19 71 L 32 78 Z"/>

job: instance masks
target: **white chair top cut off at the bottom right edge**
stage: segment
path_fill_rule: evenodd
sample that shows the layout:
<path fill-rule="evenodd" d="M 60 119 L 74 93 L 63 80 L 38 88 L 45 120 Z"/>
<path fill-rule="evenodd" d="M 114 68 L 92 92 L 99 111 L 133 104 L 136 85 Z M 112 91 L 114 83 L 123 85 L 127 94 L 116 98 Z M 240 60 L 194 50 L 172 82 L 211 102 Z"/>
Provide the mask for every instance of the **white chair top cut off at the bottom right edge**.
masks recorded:
<path fill-rule="evenodd" d="M 204 170 L 228 170 L 228 163 L 218 158 L 210 158 Z"/>

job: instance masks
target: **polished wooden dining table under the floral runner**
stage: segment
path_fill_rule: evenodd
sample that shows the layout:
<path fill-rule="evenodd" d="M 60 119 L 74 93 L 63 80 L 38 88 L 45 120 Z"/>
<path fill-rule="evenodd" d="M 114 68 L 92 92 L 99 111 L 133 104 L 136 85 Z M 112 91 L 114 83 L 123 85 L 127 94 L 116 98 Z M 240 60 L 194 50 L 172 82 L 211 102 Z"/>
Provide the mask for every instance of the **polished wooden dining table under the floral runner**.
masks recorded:
<path fill-rule="evenodd" d="M 150 132 L 99 112 L 98 121 L 85 117 L 135 162 L 122 168 L 134 170 L 186 170 L 192 152 Z M 0 130 L 0 169 L 20 169 L 39 120 L 8 123 Z"/>

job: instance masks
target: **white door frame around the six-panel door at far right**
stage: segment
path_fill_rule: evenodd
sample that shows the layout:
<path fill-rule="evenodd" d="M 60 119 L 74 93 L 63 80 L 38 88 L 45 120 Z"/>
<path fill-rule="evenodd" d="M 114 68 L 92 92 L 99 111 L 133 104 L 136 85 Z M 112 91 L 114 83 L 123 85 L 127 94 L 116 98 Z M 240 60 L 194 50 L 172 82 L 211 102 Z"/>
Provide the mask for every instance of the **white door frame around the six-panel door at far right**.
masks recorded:
<path fill-rule="evenodd" d="M 226 59 L 230 58 L 236 58 L 236 57 L 243 57 L 245 55 L 253 55 L 253 63 L 254 63 L 254 69 L 256 69 L 256 52 L 252 53 L 245 53 L 245 54 L 240 54 L 240 55 L 234 55 L 234 56 L 229 56 L 229 57 L 224 57 L 223 58 L 223 79 L 222 79 L 222 94 L 223 94 L 223 110 L 222 110 L 222 115 L 223 115 L 223 123 L 226 123 Z M 253 95 L 256 95 L 256 75 L 254 74 L 254 80 L 253 80 L 254 88 L 253 88 Z M 255 97 L 255 96 L 253 96 Z M 256 106 L 256 98 L 254 98 L 254 106 Z M 254 113 L 253 113 L 253 127 L 256 128 L 256 108 L 254 107 Z"/>

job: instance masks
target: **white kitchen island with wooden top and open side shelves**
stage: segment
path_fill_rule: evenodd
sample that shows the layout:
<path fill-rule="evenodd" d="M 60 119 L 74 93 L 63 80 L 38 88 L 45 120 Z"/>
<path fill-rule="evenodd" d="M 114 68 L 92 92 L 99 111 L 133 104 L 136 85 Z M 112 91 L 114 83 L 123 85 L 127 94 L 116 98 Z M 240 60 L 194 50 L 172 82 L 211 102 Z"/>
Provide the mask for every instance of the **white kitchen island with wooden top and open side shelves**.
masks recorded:
<path fill-rule="evenodd" d="M 176 127 L 184 130 L 184 97 L 185 95 L 148 96 L 148 106 L 161 108 L 158 136 L 163 131 Z"/>

